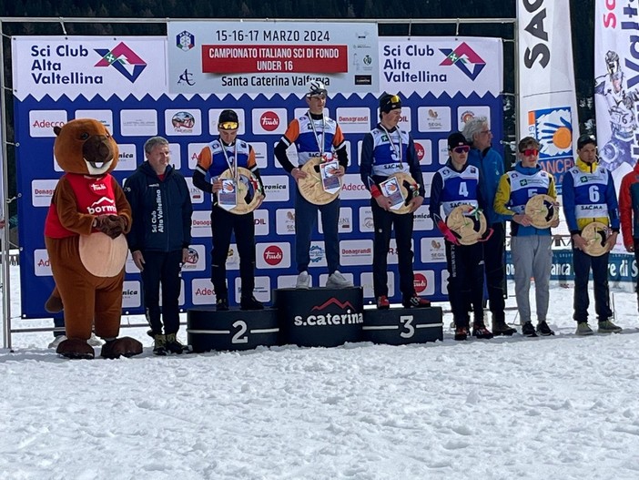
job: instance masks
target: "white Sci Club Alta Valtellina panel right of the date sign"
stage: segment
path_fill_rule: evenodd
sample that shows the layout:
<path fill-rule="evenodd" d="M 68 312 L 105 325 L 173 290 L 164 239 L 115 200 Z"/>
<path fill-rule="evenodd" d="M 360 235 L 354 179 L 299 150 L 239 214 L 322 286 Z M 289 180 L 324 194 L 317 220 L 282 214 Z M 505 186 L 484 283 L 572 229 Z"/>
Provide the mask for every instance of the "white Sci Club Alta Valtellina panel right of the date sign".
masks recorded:
<path fill-rule="evenodd" d="M 502 71 L 501 38 L 380 38 L 380 91 L 498 96 L 503 79 L 496 72 Z"/>

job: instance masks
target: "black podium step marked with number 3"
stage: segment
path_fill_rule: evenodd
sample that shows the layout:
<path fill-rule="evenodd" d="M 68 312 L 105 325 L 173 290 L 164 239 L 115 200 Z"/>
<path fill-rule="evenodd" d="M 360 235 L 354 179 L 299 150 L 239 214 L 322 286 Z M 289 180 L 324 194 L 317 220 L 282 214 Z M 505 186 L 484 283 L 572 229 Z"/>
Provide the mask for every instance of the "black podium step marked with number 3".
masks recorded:
<path fill-rule="evenodd" d="M 441 307 L 366 309 L 362 325 L 365 342 L 405 345 L 443 340 Z"/>

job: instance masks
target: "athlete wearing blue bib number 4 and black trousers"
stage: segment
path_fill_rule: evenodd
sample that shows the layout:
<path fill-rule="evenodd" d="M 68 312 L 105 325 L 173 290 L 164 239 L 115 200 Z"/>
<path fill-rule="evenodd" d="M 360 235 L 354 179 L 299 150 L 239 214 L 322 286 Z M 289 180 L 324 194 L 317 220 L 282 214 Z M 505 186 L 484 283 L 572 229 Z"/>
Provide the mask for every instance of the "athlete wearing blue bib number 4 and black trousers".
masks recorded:
<path fill-rule="evenodd" d="M 472 305 L 472 335 L 477 338 L 492 338 L 483 322 L 483 246 L 482 243 L 460 245 L 446 227 L 444 218 L 460 205 L 483 207 L 480 184 L 482 171 L 468 163 L 470 146 L 460 132 L 448 138 L 446 165 L 437 170 L 432 178 L 431 219 L 444 234 L 446 245 L 446 267 L 448 269 L 448 300 L 451 302 L 452 317 L 455 322 L 455 340 L 466 340 L 469 334 L 470 318 L 468 305 Z"/>

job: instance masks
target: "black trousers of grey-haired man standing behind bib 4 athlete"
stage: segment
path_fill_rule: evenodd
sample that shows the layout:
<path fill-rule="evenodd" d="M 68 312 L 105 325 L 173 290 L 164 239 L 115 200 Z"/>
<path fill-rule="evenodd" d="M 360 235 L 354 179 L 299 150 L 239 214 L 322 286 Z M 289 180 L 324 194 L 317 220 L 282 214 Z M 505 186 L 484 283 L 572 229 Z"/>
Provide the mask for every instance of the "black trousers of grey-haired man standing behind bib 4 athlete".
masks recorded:
<path fill-rule="evenodd" d="M 492 236 L 483 242 L 483 261 L 486 271 L 486 288 L 488 290 L 489 308 L 492 315 L 503 319 L 503 300 L 506 269 L 504 265 L 505 232 L 503 223 L 493 223 L 491 225 Z"/>

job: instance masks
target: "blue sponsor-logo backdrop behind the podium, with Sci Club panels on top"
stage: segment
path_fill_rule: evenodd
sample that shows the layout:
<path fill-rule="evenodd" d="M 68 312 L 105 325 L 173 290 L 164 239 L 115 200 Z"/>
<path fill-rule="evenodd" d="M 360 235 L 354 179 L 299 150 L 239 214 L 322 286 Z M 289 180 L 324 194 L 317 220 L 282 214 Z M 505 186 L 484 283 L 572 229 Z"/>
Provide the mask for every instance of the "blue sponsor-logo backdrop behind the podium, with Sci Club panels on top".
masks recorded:
<path fill-rule="evenodd" d="M 328 28 L 323 24 L 317 26 Z M 437 89 L 434 88 L 434 81 L 423 83 L 411 78 L 398 84 L 385 80 L 383 84 L 383 89 L 401 90 L 404 107 L 400 125 L 411 131 L 421 160 L 427 201 L 415 215 L 415 286 L 421 295 L 434 300 L 446 299 L 448 275 L 443 240 L 428 218 L 426 204 L 430 197 L 432 175 L 447 159 L 446 138 L 451 130 L 463 128 L 464 123 L 475 115 L 489 117 L 495 138 L 502 138 L 501 87 L 499 80 L 494 79 L 502 77 L 502 72 L 498 71 L 502 65 L 502 46 L 501 42 L 493 40 L 489 44 L 494 49 L 486 47 L 486 39 L 385 38 L 380 41 L 378 48 L 380 52 L 386 48 L 388 53 L 374 59 L 380 77 L 384 76 L 384 71 L 391 69 L 407 71 L 409 66 L 387 66 L 384 69 L 384 62 L 392 61 L 395 53 L 404 65 L 410 62 L 410 68 L 415 71 L 438 72 Z M 393 53 L 393 48 L 397 46 L 400 46 L 400 51 Z M 413 46 L 415 50 L 412 50 Z M 104 57 L 116 47 L 120 52 L 130 53 L 112 58 L 108 67 L 103 66 Z M 269 302 L 273 289 L 295 284 L 297 272 L 292 259 L 295 186 L 274 158 L 273 148 L 289 121 L 305 114 L 307 110 L 306 102 L 299 93 L 293 93 L 290 87 L 280 87 L 278 93 L 269 96 L 227 95 L 225 91 L 218 93 L 217 90 L 214 90 L 215 95 L 169 94 L 169 84 L 177 83 L 179 77 L 165 77 L 157 72 L 167 71 L 167 57 L 162 56 L 167 49 L 182 53 L 182 46 L 176 45 L 172 36 L 168 37 L 168 44 L 167 39 L 159 37 L 67 37 L 61 41 L 57 37 L 33 36 L 16 39 L 14 48 L 20 48 L 19 51 L 14 50 L 13 67 L 15 77 L 21 78 L 17 83 L 14 82 L 17 87 L 14 104 L 15 139 L 20 145 L 16 154 L 18 190 L 21 194 L 18 203 L 22 247 L 20 281 L 21 291 L 24 292 L 22 311 L 25 317 L 49 316 L 44 311 L 44 303 L 53 288 L 53 280 L 42 231 L 57 179 L 62 175 L 53 156 L 53 127 L 76 117 L 99 119 L 113 133 L 120 147 L 119 164 L 114 172 L 120 182 L 124 182 L 144 160 L 143 145 L 147 138 L 161 135 L 170 142 L 171 161 L 186 177 L 195 209 L 193 242 L 188 263 L 182 272 L 180 297 L 180 304 L 189 308 L 215 302 L 215 292 L 210 282 L 211 199 L 193 187 L 191 177 L 199 151 L 218 136 L 219 112 L 224 108 L 234 108 L 240 120 L 239 137 L 249 141 L 255 148 L 267 192 L 265 202 L 255 212 L 256 297 Z M 69 55 L 67 58 L 66 52 L 71 51 L 78 52 L 78 55 Z M 455 51 L 459 52 L 461 59 L 449 65 L 447 58 Z M 412 55 L 413 52 L 419 55 Z M 47 61 L 50 63 L 45 65 L 56 68 L 54 71 L 59 77 L 55 78 L 73 77 L 71 73 L 76 72 L 76 78 L 104 76 L 104 79 L 90 87 L 64 80 L 53 83 L 36 80 L 42 78 L 37 77 L 41 64 L 35 64 L 32 54 L 49 56 Z M 476 71 L 476 66 L 469 66 L 479 65 L 478 57 L 485 62 L 480 72 Z M 128 64 L 129 58 L 136 58 L 136 65 L 146 66 L 141 72 L 137 69 L 137 76 L 130 75 L 135 67 Z M 469 59 L 465 62 L 466 68 L 456 65 L 466 58 Z M 118 65 L 122 68 L 118 68 Z M 147 76 L 149 72 L 152 77 Z M 482 95 L 470 87 L 469 75 L 475 75 L 472 82 L 481 84 Z M 165 79 L 166 83 L 160 85 Z M 359 165 L 361 140 L 378 120 L 380 91 L 370 87 L 366 95 L 342 95 L 334 85 L 331 83 L 329 87 L 327 113 L 340 123 L 350 158 L 341 194 L 341 271 L 356 285 L 362 285 L 366 301 L 371 301 L 372 216 L 370 194 L 360 181 Z M 144 94 L 145 89 L 148 95 Z M 441 94 L 433 94 L 433 90 Z M 127 95 L 127 91 L 138 93 Z M 500 148 L 499 145 L 496 147 Z M 291 158 L 295 155 L 292 150 L 294 148 L 289 152 Z M 324 285 L 327 279 L 324 252 L 320 227 L 311 244 L 309 272 L 313 286 Z M 393 301 L 399 301 L 401 295 L 397 262 L 396 244 L 391 240 L 389 271 Z M 231 244 L 228 251 L 227 265 L 229 300 L 238 301 L 239 258 L 235 243 Z M 140 276 L 130 259 L 127 260 L 126 272 L 124 311 L 139 313 L 142 311 Z"/>

